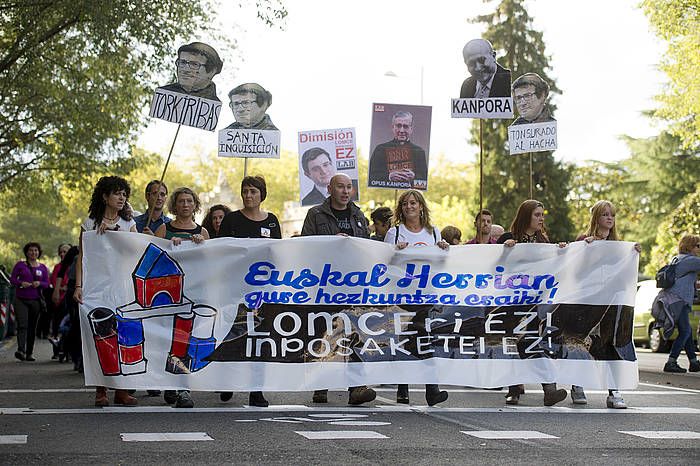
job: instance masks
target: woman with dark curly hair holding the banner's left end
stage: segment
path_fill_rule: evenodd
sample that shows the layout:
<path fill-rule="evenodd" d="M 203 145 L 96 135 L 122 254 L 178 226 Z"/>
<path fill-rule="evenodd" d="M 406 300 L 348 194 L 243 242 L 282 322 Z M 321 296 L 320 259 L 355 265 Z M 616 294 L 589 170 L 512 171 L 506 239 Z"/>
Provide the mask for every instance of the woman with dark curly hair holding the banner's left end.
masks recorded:
<path fill-rule="evenodd" d="M 97 181 L 92 191 L 88 218 L 80 225 L 80 252 L 75 270 L 75 300 L 83 303 L 83 233 L 95 230 L 98 235 L 110 231 L 136 232 L 136 223 L 128 220 L 126 214 L 126 201 L 129 199 L 131 188 L 129 183 L 118 176 L 103 176 Z M 113 260 L 120 260 L 114 257 Z M 136 398 L 129 395 L 127 390 L 114 391 L 114 404 L 124 406 L 136 406 Z M 107 387 L 95 387 L 95 406 L 108 406 Z"/>

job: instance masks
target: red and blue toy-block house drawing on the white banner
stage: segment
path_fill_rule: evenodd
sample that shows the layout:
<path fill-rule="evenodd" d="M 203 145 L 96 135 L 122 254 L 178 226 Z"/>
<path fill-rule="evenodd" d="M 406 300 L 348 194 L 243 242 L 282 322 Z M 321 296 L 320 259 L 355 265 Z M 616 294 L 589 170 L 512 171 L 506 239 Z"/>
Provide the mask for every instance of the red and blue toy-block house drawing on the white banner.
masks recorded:
<path fill-rule="evenodd" d="M 163 249 L 151 243 L 132 273 L 135 300 L 116 312 L 98 307 L 88 313 L 104 375 L 146 372 L 143 320 L 172 317 L 172 340 L 165 371 L 189 374 L 209 364 L 216 347 L 217 311 L 184 295 L 185 273 Z"/>

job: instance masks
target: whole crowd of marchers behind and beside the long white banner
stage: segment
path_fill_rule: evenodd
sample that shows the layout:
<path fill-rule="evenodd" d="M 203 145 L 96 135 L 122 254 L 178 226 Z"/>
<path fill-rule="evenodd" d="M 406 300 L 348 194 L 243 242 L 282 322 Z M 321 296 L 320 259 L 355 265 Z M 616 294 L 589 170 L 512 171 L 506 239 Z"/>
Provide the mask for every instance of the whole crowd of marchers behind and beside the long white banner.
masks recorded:
<path fill-rule="evenodd" d="M 344 174 L 333 176 L 327 186 L 329 196 L 318 205 L 311 207 L 304 220 L 301 236 L 342 235 L 383 241 L 397 249 L 415 247 L 438 247 L 449 249 L 450 246 L 465 244 L 503 244 L 514 247 L 521 243 L 549 243 L 545 227 L 545 207 L 537 200 L 525 200 L 518 207 L 508 231 L 494 223 L 494 214 L 488 209 L 477 213 L 474 219 L 474 237 L 462 241 L 462 232 L 454 226 L 440 229 L 432 223 L 430 209 L 420 191 L 408 190 L 398 198 L 394 211 L 389 207 L 379 207 L 371 215 L 371 224 L 352 202 L 352 180 Z M 195 221 L 195 215 L 201 209 L 197 193 L 192 189 L 181 187 L 168 196 L 167 185 L 153 180 L 146 186 L 145 198 L 148 208 L 145 213 L 133 217 L 128 203 L 131 194 L 129 183 L 117 176 L 100 178 L 92 193 L 88 217 L 81 224 L 82 231 L 95 230 L 97 234 L 105 231 L 127 231 L 154 235 L 171 240 L 174 244 L 182 241 L 202 243 L 210 238 L 269 238 L 282 237 L 280 222 L 275 214 L 261 208 L 267 197 L 265 179 L 261 176 L 246 176 L 241 182 L 243 208 L 232 211 L 229 207 L 217 204 L 212 206 L 202 224 Z M 166 207 L 174 218 L 164 212 Z M 576 241 L 592 243 L 594 241 L 617 241 L 615 207 L 608 201 L 598 201 L 591 208 L 590 222 L 587 230 Z M 566 242 L 558 243 L 566 247 Z M 640 246 L 635 245 L 637 252 Z M 62 244 L 58 248 L 61 261 L 49 273 L 47 267 L 39 262 L 42 249 L 38 243 L 30 242 L 23 249 L 25 260 L 17 262 L 12 271 L 12 285 L 17 288 L 15 314 L 17 316 L 17 351 L 15 357 L 20 361 L 34 361 L 34 342 L 39 328 L 39 319 L 45 313 L 47 304 L 51 304 L 53 314 L 49 319 L 50 333 L 54 344 L 54 357 L 63 361 L 70 359 L 77 371 L 82 371 L 80 354 L 80 328 L 78 305 L 83 301 L 82 294 L 82 235 L 79 246 Z M 677 358 L 685 350 L 690 361 L 690 371 L 700 371 L 695 352 L 692 348 L 692 335 L 688 315 L 692 305 L 697 274 L 700 272 L 700 237 L 687 235 L 680 242 L 678 268 L 680 275 L 674 288 L 670 290 L 680 297 L 682 304 L 677 307 L 679 337 L 676 339 L 669 361 L 664 370 L 667 372 L 685 372 L 678 366 Z M 115 258 L 118 260 L 118 258 Z M 45 300 L 45 290 L 49 301 Z M 420 310 L 418 310 L 420 312 Z M 556 383 L 543 383 L 545 406 L 552 406 L 567 397 L 567 391 L 557 388 Z M 149 395 L 159 396 L 160 391 L 149 390 Z M 517 404 L 525 393 L 523 385 L 513 385 L 506 394 L 507 404 Z M 222 401 L 228 401 L 231 392 L 221 392 Z M 370 402 L 376 392 L 367 386 L 349 388 L 348 402 L 359 405 Z M 573 386 L 572 401 L 585 404 L 586 395 L 583 387 Z M 436 384 L 425 386 L 425 398 L 430 406 L 444 402 L 448 393 L 440 390 Z M 188 390 L 166 390 L 164 399 L 179 408 L 194 406 Z M 327 390 L 317 390 L 313 394 L 315 403 L 327 403 Z M 409 402 L 407 385 L 398 385 L 396 393 L 398 403 Z M 134 406 L 137 400 L 128 390 L 115 390 L 114 403 Z M 107 406 L 109 400 L 106 387 L 96 387 L 95 405 Z M 251 406 L 268 406 L 262 392 L 249 394 Z M 620 393 L 611 387 L 606 400 L 609 408 L 625 408 L 626 404 Z"/>

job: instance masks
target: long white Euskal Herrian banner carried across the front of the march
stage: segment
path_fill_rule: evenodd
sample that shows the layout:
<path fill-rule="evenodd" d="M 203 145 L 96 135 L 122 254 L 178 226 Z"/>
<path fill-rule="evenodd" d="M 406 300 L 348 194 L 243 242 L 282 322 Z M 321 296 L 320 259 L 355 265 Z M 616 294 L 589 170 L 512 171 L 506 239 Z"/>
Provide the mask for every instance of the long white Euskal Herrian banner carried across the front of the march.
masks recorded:
<path fill-rule="evenodd" d="M 83 234 L 87 385 L 635 388 L 633 243 L 395 250 L 358 238 L 173 246 Z"/>

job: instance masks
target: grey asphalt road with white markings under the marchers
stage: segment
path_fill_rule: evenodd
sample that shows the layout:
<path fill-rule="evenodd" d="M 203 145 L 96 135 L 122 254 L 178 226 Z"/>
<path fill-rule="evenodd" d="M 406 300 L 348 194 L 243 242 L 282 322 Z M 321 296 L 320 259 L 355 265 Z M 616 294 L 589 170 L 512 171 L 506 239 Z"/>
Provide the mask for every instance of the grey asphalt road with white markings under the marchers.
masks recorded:
<path fill-rule="evenodd" d="M 446 387 L 449 400 L 428 408 L 418 386 L 397 405 L 381 386 L 366 407 L 348 406 L 346 392 L 327 405 L 269 393 L 264 409 L 243 393 L 224 403 L 194 392 L 194 409 L 175 409 L 137 392 L 138 407 L 95 408 L 94 390 L 49 360 L 45 340 L 34 363 L 14 351 L 0 346 L 0 464 L 700 464 L 700 373 L 664 374 L 666 356 L 645 350 L 626 410 L 606 409 L 601 390 L 586 406 L 544 408 L 535 385 L 517 407 L 504 392 Z"/>

